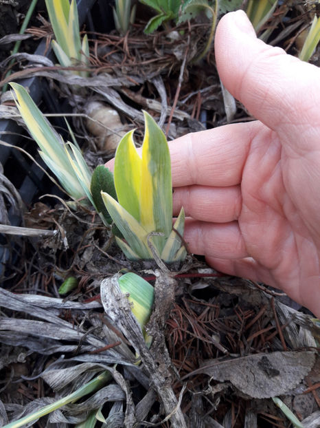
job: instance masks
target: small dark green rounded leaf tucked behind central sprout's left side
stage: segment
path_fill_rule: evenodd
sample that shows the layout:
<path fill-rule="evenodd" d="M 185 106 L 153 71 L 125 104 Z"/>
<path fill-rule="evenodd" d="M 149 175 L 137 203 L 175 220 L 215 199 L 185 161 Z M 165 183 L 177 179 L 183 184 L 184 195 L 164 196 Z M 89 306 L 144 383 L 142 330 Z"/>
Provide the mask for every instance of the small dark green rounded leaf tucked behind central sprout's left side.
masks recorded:
<path fill-rule="evenodd" d="M 91 195 L 93 197 L 93 202 L 98 213 L 102 213 L 108 224 L 111 224 L 112 219 L 106 210 L 106 206 L 102 200 L 101 191 L 108 193 L 117 200 L 117 195 L 115 193 L 115 183 L 113 180 L 113 173 L 110 169 L 104 167 L 104 165 L 99 165 L 93 171 L 91 177 Z"/>

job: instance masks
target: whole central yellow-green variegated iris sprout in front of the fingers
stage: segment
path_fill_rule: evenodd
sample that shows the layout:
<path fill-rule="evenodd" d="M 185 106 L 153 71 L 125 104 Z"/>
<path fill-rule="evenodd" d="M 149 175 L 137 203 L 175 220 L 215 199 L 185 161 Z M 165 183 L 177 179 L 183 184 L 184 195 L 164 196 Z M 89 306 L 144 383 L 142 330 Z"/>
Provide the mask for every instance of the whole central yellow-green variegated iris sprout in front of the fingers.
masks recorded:
<path fill-rule="evenodd" d="M 168 142 L 155 120 L 144 111 L 145 134 L 141 156 L 126 133 L 115 153 L 117 199 L 102 192 L 102 199 L 125 241 L 117 243 L 131 260 L 152 259 L 152 248 L 164 261 L 185 258 L 181 246 L 184 213 L 172 230 L 172 180 Z M 183 248 L 183 249 L 181 249 Z"/>

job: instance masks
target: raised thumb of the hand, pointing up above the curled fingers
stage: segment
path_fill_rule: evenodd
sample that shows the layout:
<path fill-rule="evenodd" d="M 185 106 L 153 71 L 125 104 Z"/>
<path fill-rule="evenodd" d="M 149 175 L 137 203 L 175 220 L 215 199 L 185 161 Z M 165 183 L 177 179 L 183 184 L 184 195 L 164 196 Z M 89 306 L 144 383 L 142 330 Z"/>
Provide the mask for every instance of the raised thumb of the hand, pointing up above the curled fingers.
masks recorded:
<path fill-rule="evenodd" d="M 255 118 L 291 146 L 319 146 L 318 67 L 257 39 L 242 10 L 220 20 L 215 52 L 222 83 Z"/>

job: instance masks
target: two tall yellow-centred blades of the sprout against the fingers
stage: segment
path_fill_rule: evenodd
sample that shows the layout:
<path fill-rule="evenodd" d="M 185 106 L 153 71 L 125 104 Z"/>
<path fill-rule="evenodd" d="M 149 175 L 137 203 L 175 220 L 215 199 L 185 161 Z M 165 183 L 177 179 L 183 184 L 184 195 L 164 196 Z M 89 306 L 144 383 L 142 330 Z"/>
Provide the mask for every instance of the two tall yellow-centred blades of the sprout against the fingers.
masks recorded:
<path fill-rule="evenodd" d="M 119 204 L 145 231 L 164 234 L 152 237 L 161 254 L 172 229 L 170 153 L 165 135 L 155 120 L 146 111 L 144 118 L 146 126 L 141 157 L 133 142 L 133 131 L 126 133 L 119 142 L 115 153 L 115 190 Z M 121 228 L 119 230 L 122 232 Z M 128 244 L 131 246 L 130 241 Z"/>

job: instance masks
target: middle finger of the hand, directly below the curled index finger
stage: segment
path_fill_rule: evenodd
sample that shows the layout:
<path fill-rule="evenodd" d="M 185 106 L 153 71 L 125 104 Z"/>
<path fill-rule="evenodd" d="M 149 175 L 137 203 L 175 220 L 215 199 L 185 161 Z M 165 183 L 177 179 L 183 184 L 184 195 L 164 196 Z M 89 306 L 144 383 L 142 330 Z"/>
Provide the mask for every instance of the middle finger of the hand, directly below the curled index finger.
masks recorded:
<path fill-rule="evenodd" d="M 238 220 L 241 209 L 240 186 L 177 187 L 173 194 L 173 214 L 178 215 L 181 206 L 187 217 L 203 222 L 225 223 Z"/>

